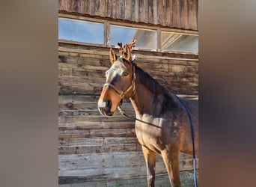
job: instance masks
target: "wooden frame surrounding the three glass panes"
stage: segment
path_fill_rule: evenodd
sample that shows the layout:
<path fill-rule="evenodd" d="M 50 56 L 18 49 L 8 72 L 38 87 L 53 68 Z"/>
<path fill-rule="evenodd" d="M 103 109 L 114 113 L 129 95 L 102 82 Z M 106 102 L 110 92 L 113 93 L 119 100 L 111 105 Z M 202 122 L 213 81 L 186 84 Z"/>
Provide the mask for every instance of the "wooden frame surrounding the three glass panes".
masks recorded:
<path fill-rule="evenodd" d="M 135 47 L 134 50 L 142 50 L 142 51 L 156 51 L 156 52 L 168 52 L 168 53 L 176 53 L 176 54 L 188 54 L 188 55 L 198 55 L 198 53 L 195 52 L 182 52 L 182 51 L 170 51 L 166 49 L 162 49 L 162 41 L 161 41 L 161 33 L 162 31 L 166 32 L 173 32 L 175 34 L 186 34 L 186 35 L 193 35 L 198 36 L 198 31 L 190 31 L 190 30 L 183 30 L 183 29 L 177 29 L 177 28 L 165 28 L 165 27 L 159 27 L 156 25 L 146 25 L 146 23 L 138 24 L 138 23 L 130 23 L 125 21 L 113 21 L 103 18 L 91 18 L 88 16 L 79 16 L 79 15 L 73 15 L 73 14 L 66 14 L 66 13 L 58 13 L 58 18 L 66 18 L 66 19 L 74 19 L 78 21 L 88 21 L 88 22 L 97 22 L 97 23 L 103 23 L 104 25 L 104 43 L 103 44 L 97 44 L 97 43 L 85 43 L 85 42 L 79 42 L 79 41 L 71 41 L 71 40 L 63 40 L 58 39 L 58 42 L 61 43 L 70 43 L 70 44 L 78 44 L 78 45 L 86 45 L 86 46 L 103 46 L 103 47 L 109 47 L 109 37 L 110 37 L 110 25 L 117 25 L 117 26 L 124 26 L 128 28 L 138 28 L 138 29 L 148 29 L 152 31 L 156 31 L 156 49 L 144 49 L 144 48 L 138 48 Z M 115 45 L 116 46 L 116 45 Z"/>

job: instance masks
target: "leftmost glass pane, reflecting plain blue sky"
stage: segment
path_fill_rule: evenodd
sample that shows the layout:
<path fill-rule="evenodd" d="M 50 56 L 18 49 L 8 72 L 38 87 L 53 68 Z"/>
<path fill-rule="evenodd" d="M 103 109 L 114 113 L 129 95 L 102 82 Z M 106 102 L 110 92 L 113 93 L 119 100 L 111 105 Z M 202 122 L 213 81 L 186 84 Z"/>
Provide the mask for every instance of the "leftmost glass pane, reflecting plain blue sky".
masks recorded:
<path fill-rule="evenodd" d="M 58 39 L 104 44 L 104 24 L 59 18 Z"/>

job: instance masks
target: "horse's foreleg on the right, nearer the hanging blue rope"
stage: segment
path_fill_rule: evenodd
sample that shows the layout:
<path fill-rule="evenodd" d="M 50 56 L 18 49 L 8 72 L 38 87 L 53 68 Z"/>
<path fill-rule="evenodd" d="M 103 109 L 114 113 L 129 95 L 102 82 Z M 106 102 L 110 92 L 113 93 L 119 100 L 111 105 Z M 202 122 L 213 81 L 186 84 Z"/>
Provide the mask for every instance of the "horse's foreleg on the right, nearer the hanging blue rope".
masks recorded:
<path fill-rule="evenodd" d="M 180 187 L 179 151 L 162 151 L 162 159 L 168 171 L 171 186 Z"/>

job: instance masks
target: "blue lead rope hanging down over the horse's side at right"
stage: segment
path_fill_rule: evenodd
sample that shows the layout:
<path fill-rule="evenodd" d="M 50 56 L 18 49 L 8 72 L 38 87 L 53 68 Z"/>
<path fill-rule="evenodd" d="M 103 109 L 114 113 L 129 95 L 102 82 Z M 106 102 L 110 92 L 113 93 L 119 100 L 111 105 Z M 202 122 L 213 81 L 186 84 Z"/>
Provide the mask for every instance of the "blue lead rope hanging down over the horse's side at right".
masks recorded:
<path fill-rule="evenodd" d="M 180 102 L 183 104 L 183 106 L 186 108 L 186 112 L 189 115 L 189 121 L 190 121 L 190 126 L 191 126 L 191 134 L 192 134 L 192 145 L 193 145 L 193 168 L 194 168 L 194 183 L 195 183 L 195 187 L 198 186 L 198 182 L 197 182 L 197 174 L 196 174 L 196 160 L 195 160 L 195 140 L 194 140 L 194 129 L 193 129 L 193 123 L 192 123 L 192 117 L 189 111 L 189 108 L 186 106 L 185 102 L 183 102 L 182 99 L 180 99 L 179 96 L 175 95 L 177 97 L 177 99 L 180 100 Z"/>

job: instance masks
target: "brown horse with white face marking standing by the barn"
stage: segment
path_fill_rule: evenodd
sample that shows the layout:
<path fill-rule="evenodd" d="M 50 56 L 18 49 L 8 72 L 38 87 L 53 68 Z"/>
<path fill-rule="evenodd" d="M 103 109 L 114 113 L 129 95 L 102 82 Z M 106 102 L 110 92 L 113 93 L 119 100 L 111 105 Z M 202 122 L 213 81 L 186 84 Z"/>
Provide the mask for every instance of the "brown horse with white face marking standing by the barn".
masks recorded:
<path fill-rule="evenodd" d="M 118 43 L 119 45 L 119 43 Z M 121 48 L 121 56 L 110 48 L 112 66 L 106 71 L 106 84 L 98 100 L 101 114 L 112 116 L 123 99 L 135 110 L 135 134 L 147 165 L 147 186 L 154 186 L 156 154 L 162 156 L 171 186 L 180 186 L 179 154 L 192 154 L 192 129 L 198 157 L 198 100 L 180 99 L 132 61 L 132 45 Z M 134 46 L 134 45 L 133 45 Z M 185 107 L 186 106 L 186 107 Z"/>

